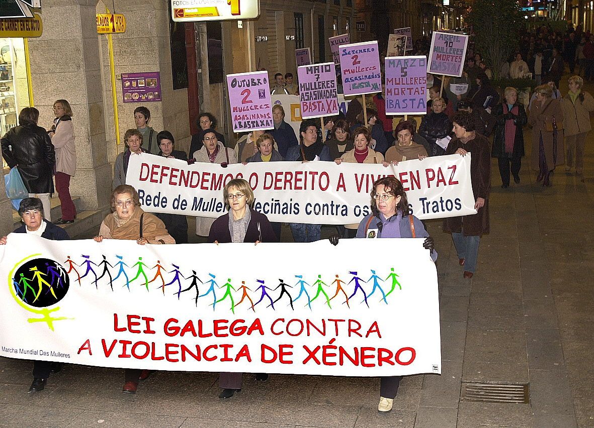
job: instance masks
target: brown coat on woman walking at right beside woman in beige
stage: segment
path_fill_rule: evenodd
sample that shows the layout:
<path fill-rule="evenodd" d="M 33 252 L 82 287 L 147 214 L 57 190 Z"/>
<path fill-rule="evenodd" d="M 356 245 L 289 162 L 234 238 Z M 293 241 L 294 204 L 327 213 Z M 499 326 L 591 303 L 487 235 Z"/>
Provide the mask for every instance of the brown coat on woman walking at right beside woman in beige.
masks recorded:
<path fill-rule="evenodd" d="M 550 105 L 549 105 L 550 103 Z M 547 132 L 546 122 L 552 122 L 555 116 L 555 122 L 563 121 L 563 110 L 561 109 L 561 100 L 549 100 L 542 106 L 541 103 L 532 104 L 528 123 L 532 125 L 532 153 L 530 154 L 530 165 L 535 171 L 540 170 L 538 166 L 538 147 L 539 139 L 542 135 L 542 145 L 545 149 L 546 166 L 552 170 L 557 165 L 565 163 L 565 150 L 563 150 L 563 131 L 558 131 L 554 137 L 553 132 Z M 554 142 L 557 143 L 557 162 L 554 162 Z"/>

